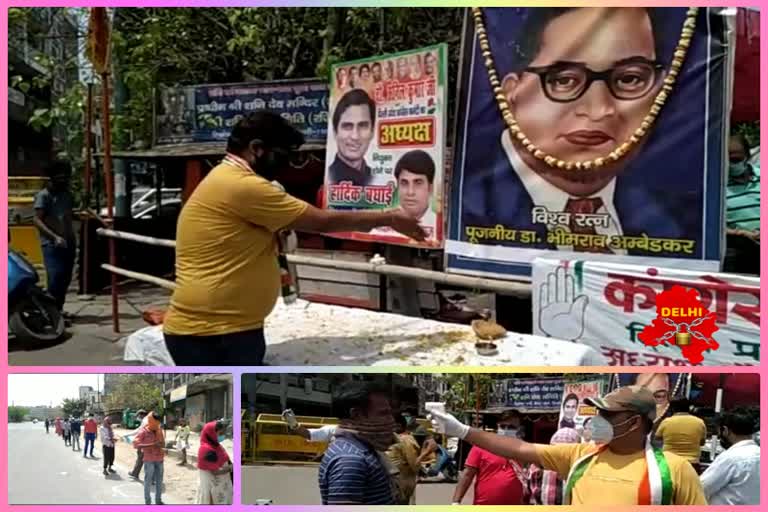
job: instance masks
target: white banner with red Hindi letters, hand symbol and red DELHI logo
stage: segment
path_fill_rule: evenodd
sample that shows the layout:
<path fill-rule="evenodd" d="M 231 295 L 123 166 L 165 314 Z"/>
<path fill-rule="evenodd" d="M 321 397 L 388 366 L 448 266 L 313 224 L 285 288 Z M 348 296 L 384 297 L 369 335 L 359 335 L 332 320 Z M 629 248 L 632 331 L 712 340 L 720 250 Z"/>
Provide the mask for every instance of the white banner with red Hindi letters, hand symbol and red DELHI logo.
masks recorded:
<path fill-rule="evenodd" d="M 665 299 L 680 289 L 700 310 L 685 326 Z M 676 321 L 668 324 L 665 309 Z M 533 264 L 533 325 L 536 335 L 589 345 L 612 366 L 758 365 L 760 278 L 540 258 Z M 678 331 L 689 335 L 678 338 Z"/>

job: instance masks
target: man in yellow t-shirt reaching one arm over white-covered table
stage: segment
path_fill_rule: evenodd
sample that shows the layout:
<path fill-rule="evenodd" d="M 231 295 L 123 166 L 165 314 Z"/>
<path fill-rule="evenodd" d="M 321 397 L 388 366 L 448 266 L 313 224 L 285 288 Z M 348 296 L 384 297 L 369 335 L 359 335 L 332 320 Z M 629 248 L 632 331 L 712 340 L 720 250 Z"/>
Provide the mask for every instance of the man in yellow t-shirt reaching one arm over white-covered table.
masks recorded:
<path fill-rule="evenodd" d="M 176 231 L 176 284 L 163 332 L 179 366 L 259 366 L 264 319 L 280 292 L 276 234 L 389 226 L 424 240 L 402 210 L 320 210 L 271 183 L 304 137 L 278 114 L 240 120 L 227 156 L 192 193 Z"/>

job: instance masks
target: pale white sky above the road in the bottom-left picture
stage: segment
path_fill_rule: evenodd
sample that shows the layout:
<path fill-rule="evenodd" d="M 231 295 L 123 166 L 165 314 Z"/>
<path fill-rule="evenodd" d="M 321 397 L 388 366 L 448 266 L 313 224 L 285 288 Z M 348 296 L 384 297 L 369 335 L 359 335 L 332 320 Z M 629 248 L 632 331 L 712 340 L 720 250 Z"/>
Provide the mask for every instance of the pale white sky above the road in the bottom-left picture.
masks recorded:
<path fill-rule="evenodd" d="M 80 386 L 104 387 L 102 374 L 11 374 L 8 375 L 8 405 L 61 405 L 65 398 L 79 398 Z"/>

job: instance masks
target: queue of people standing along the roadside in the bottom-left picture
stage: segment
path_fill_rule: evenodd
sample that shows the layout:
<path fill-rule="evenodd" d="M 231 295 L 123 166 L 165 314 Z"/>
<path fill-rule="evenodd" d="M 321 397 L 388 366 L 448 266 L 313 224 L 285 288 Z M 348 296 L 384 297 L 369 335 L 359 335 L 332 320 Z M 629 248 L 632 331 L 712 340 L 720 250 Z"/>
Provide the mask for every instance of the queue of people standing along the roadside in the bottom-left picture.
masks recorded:
<path fill-rule="evenodd" d="M 133 469 L 128 473 L 132 479 L 141 480 L 141 471 L 144 470 L 144 503 L 152 504 L 152 493 L 156 505 L 163 503 L 163 477 L 165 469 L 165 456 L 167 444 L 165 432 L 162 428 L 163 418 L 160 414 L 144 409 L 136 413 L 139 426 L 132 432 L 122 436 L 124 442 L 136 449 L 136 461 Z M 53 427 L 56 435 L 64 440 L 64 445 L 72 447 L 73 451 L 80 451 L 79 438 L 84 439 L 83 457 L 97 459 L 93 450 L 96 440 L 101 441 L 103 473 L 109 477 L 117 473 L 114 469 L 115 449 L 119 441 L 112 427 L 112 420 L 107 416 L 101 421 L 96 421 L 94 414 L 89 414 L 88 419 L 82 422 L 78 417 L 56 418 L 45 420 L 45 431 L 50 433 Z M 206 423 L 200 433 L 200 446 L 197 451 L 197 469 L 199 474 L 199 486 L 196 503 L 199 505 L 231 505 L 233 466 L 229 454 L 221 445 L 226 439 L 227 422 L 216 420 Z M 187 450 L 189 449 L 190 427 L 186 420 L 180 419 L 176 427 L 176 437 L 173 446 L 179 451 L 180 466 L 187 462 Z"/>

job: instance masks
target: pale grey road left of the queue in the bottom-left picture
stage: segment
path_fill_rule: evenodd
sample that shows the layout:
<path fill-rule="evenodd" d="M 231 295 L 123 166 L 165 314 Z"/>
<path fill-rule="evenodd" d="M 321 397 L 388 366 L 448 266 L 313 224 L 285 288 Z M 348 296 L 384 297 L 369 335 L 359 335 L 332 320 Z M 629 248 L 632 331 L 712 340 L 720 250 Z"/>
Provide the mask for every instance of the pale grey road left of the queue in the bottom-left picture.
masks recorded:
<path fill-rule="evenodd" d="M 82 442 L 81 438 L 81 448 Z M 95 459 L 86 459 L 82 451 L 73 452 L 64 446 L 63 439 L 53 429 L 46 435 L 42 423 L 9 424 L 8 502 L 11 505 L 144 503 L 144 486 L 127 476 L 128 468 L 115 464 L 117 474 L 105 477 L 100 443 L 96 443 L 93 454 Z M 182 503 L 165 492 L 163 501 Z"/>

